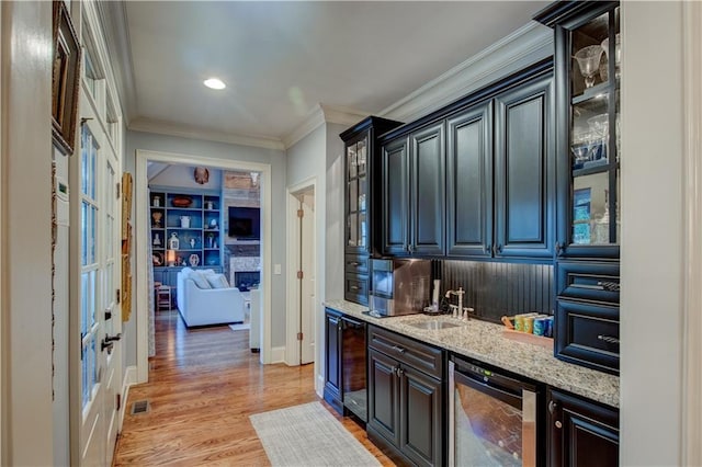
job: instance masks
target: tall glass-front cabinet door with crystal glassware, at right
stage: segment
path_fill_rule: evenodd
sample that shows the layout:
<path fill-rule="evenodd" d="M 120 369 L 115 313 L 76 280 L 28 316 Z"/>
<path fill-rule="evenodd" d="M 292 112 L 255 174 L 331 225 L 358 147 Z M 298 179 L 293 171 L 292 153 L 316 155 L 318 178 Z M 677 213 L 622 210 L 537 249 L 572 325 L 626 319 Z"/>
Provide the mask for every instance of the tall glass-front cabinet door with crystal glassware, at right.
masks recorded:
<path fill-rule="evenodd" d="M 559 257 L 619 258 L 620 14 L 615 3 L 556 27 L 561 62 Z"/>

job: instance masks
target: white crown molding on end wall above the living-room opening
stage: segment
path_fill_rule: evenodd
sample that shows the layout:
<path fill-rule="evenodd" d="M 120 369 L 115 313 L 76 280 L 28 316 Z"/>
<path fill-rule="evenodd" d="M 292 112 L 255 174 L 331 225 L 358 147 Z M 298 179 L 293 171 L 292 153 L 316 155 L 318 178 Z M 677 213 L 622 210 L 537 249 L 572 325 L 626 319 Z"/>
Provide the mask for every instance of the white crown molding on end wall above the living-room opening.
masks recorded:
<path fill-rule="evenodd" d="M 228 143 L 230 145 L 252 146 L 263 149 L 285 150 L 283 141 L 264 136 L 244 136 L 230 133 L 199 129 L 173 124 L 171 122 L 138 117 L 132 121 L 128 128 L 133 132 L 155 133 L 158 135 L 178 136 L 181 138 L 204 139 L 208 141 Z"/>

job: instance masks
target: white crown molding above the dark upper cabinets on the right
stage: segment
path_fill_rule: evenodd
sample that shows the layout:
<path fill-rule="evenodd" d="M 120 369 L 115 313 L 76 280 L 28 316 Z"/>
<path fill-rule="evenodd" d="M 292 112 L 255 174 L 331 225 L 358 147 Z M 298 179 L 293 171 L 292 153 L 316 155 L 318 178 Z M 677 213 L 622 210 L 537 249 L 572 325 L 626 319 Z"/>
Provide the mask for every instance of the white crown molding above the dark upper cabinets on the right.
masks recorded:
<path fill-rule="evenodd" d="M 377 115 L 411 122 L 553 55 L 553 30 L 531 21 Z"/>

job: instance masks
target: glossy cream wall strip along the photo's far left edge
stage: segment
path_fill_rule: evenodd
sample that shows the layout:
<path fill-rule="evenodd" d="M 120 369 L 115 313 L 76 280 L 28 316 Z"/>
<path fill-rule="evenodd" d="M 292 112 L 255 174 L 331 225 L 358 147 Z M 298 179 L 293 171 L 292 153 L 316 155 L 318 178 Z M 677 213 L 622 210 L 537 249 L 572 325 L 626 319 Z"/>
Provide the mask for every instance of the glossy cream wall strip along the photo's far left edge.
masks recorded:
<path fill-rule="evenodd" d="M 52 3 L 1 2 L 2 434 L 0 464 L 54 464 Z M 68 426 L 66 426 L 66 430 Z"/>

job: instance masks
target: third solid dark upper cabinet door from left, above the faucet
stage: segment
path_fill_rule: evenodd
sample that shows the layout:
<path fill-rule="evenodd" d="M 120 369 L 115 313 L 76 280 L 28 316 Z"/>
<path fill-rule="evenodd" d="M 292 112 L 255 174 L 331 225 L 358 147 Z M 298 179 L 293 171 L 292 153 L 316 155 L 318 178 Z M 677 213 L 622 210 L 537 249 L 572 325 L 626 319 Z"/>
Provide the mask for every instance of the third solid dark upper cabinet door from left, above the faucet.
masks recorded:
<path fill-rule="evenodd" d="M 446 122 L 446 254 L 490 257 L 492 102 Z"/>

